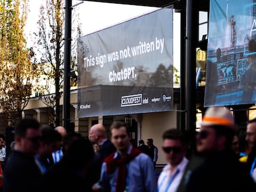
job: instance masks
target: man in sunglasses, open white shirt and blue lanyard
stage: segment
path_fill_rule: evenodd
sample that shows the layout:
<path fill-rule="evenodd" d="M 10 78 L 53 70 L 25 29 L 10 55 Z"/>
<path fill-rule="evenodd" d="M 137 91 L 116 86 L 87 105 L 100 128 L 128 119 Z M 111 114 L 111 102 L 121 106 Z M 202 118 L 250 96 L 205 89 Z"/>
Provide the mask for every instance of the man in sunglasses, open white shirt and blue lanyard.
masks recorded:
<path fill-rule="evenodd" d="M 185 157 L 186 140 L 181 131 L 176 129 L 165 131 L 162 149 L 168 164 L 158 178 L 158 192 L 174 192 L 177 190 L 189 162 Z"/>

